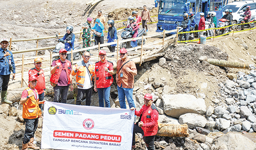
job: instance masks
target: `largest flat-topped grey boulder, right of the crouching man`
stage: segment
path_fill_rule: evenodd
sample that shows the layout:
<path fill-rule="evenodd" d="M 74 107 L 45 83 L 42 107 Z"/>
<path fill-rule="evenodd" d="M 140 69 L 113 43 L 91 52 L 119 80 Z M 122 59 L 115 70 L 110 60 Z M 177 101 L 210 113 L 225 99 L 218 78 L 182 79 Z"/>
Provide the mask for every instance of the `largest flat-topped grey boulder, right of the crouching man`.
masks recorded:
<path fill-rule="evenodd" d="M 165 94 L 162 96 L 163 110 L 166 115 L 179 118 L 185 113 L 203 115 L 206 112 L 204 99 L 189 94 Z"/>

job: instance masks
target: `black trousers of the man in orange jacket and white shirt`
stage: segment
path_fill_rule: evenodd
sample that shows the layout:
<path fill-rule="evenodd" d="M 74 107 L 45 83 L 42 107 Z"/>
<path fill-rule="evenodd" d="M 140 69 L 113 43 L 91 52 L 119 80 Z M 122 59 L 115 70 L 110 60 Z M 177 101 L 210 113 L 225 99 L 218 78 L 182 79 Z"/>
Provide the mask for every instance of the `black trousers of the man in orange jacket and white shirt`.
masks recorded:
<path fill-rule="evenodd" d="M 78 88 L 77 89 L 76 105 L 81 105 L 81 102 L 82 102 L 84 94 L 85 94 L 85 96 L 86 96 L 85 105 L 90 106 L 90 102 L 91 102 L 90 99 L 92 96 L 92 92 L 93 92 L 93 87 L 91 87 L 89 89 Z"/>

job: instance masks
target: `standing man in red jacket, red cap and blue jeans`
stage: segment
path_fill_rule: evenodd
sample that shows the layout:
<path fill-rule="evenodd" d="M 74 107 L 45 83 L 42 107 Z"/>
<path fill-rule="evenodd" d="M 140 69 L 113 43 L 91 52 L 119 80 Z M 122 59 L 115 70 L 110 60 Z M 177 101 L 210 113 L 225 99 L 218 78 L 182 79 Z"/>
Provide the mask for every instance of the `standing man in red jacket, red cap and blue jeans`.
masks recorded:
<path fill-rule="evenodd" d="M 95 63 L 94 91 L 98 91 L 99 107 L 110 108 L 110 88 L 113 83 L 113 63 L 106 60 L 106 51 L 99 52 L 100 61 Z"/>

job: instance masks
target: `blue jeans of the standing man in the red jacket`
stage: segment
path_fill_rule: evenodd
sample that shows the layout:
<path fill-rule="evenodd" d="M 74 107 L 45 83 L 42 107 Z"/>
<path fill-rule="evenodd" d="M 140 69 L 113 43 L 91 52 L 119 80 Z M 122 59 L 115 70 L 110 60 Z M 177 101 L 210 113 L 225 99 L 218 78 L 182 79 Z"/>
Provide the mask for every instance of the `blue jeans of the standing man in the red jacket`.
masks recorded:
<path fill-rule="evenodd" d="M 110 87 L 108 88 L 98 88 L 98 95 L 99 95 L 99 107 L 104 107 L 104 99 L 105 99 L 105 106 L 110 108 Z"/>

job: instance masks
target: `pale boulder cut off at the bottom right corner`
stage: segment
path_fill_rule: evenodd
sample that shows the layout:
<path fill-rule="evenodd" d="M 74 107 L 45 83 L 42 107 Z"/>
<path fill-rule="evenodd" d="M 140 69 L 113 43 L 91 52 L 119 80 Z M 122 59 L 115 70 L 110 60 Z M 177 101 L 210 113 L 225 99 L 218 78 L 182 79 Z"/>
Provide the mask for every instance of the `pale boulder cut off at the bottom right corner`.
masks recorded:
<path fill-rule="evenodd" d="M 239 133 L 227 133 L 216 139 L 215 145 L 218 150 L 221 146 L 226 145 L 227 150 L 255 150 L 256 145 L 250 139 Z"/>

